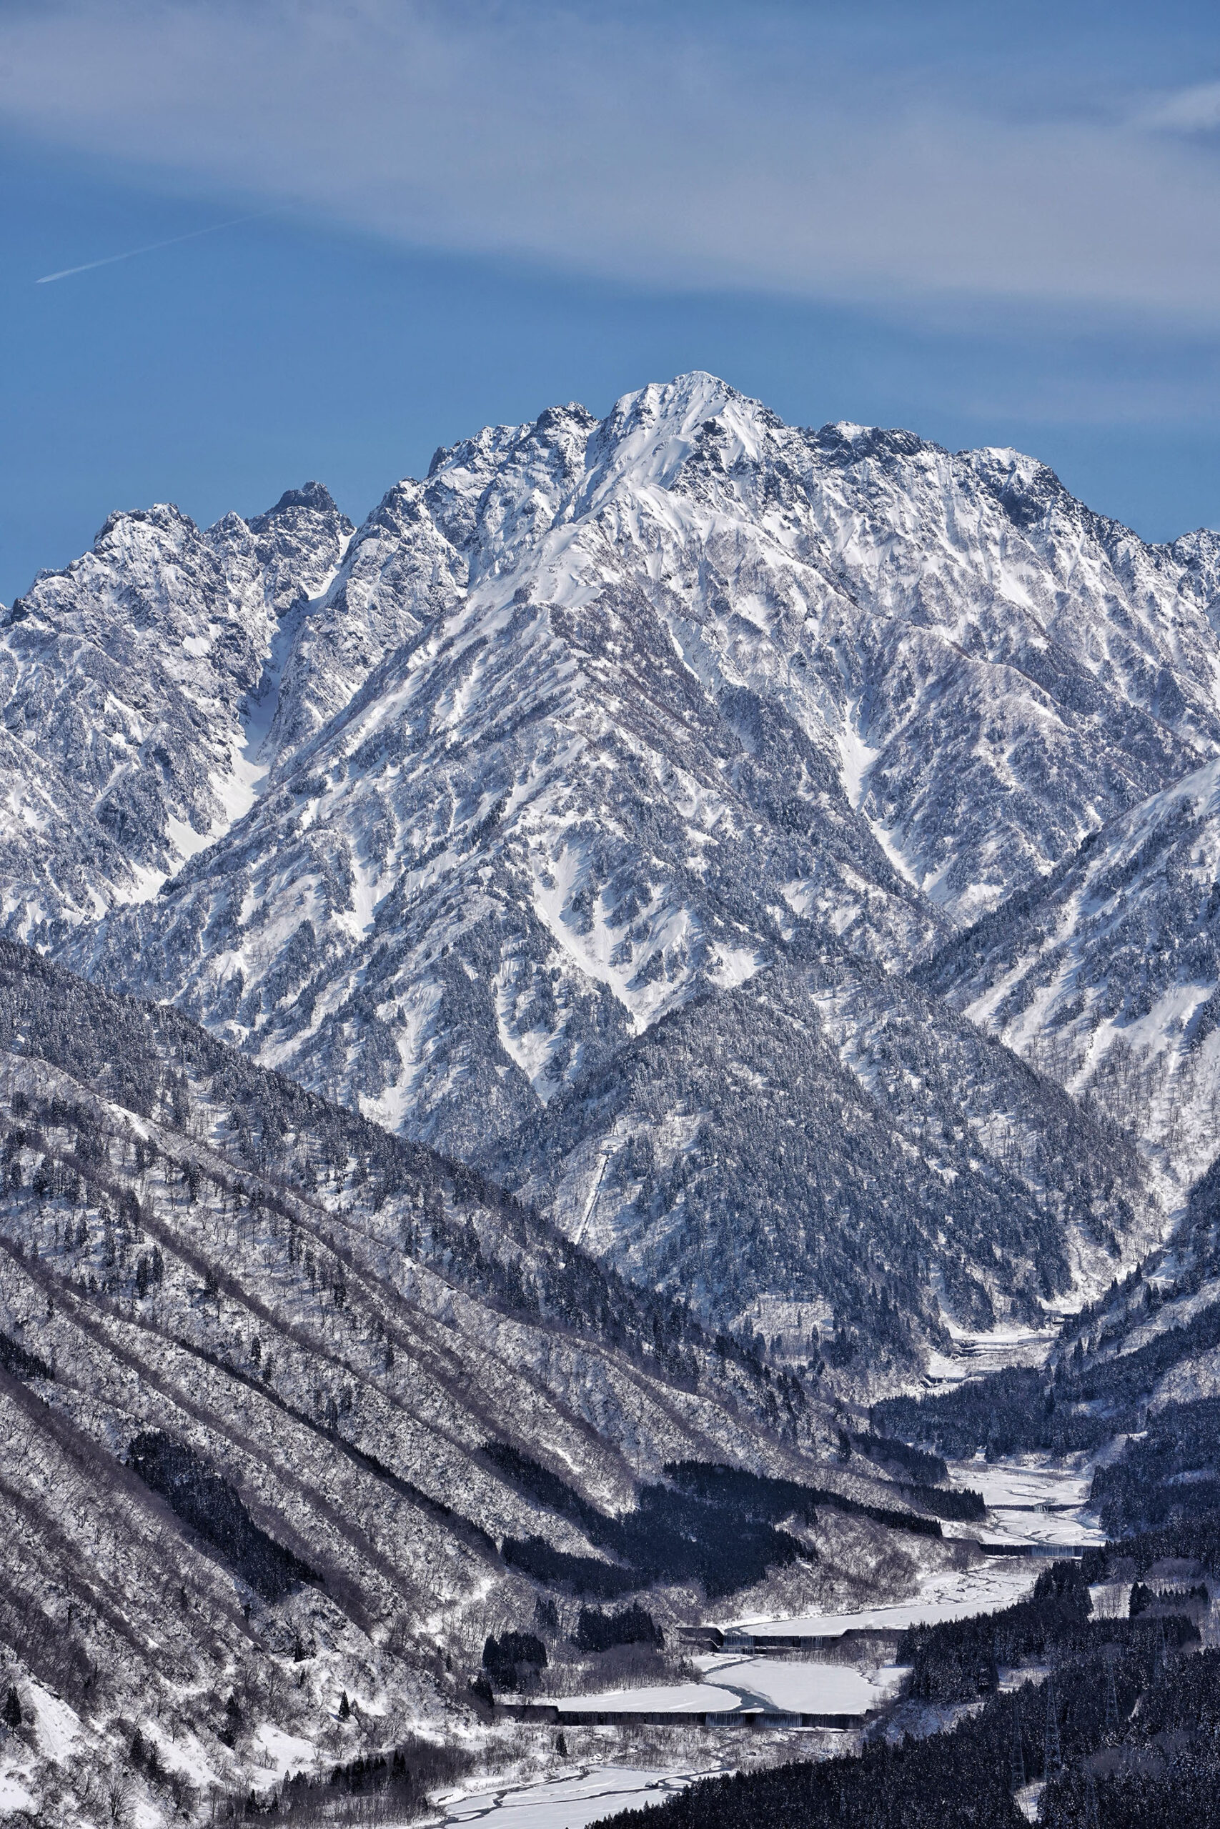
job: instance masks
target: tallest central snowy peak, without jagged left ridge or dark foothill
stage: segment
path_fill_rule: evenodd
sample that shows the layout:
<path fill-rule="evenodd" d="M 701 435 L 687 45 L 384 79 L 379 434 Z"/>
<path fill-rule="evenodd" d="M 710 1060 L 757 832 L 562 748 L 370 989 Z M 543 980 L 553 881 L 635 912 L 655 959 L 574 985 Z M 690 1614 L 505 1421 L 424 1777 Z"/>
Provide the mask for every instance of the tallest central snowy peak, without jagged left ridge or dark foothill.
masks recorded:
<path fill-rule="evenodd" d="M 280 792 L 73 958 L 465 1141 L 432 1063 L 465 1002 L 481 1096 L 523 1116 L 794 913 L 918 958 L 938 909 L 1202 761 L 1196 545 L 1145 549 L 1013 454 L 796 432 L 706 375 L 485 432 L 302 620 Z M 470 989 L 433 957 L 466 927 L 505 929 Z M 338 1044 L 357 988 L 379 1026 Z"/>

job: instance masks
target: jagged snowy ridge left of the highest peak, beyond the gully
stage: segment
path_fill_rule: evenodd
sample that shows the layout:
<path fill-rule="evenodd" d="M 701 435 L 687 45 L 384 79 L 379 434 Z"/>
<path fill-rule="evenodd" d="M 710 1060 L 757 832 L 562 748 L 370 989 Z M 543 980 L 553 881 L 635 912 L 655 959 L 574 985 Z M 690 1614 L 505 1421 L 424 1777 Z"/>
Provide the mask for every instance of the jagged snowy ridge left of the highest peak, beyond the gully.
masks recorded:
<path fill-rule="evenodd" d="M 349 532 L 316 483 L 207 532 L 174 507 L 113 514 L 18 598 L 0 631 L 9 935 L 60 944 L 249 808 L 278 618 L 322 591 Z"/>

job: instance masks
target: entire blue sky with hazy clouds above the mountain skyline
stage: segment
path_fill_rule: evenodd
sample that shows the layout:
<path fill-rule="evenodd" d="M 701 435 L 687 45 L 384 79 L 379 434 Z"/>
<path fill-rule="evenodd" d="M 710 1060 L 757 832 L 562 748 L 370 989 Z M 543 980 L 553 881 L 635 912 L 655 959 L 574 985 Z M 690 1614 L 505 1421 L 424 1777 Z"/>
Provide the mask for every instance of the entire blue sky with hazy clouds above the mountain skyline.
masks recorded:
<path fill-rule="evenodd" d="M 1215 7 L 4 0 L 0 249 L 5 602 L 686 368 L 1220 525 Z"/>

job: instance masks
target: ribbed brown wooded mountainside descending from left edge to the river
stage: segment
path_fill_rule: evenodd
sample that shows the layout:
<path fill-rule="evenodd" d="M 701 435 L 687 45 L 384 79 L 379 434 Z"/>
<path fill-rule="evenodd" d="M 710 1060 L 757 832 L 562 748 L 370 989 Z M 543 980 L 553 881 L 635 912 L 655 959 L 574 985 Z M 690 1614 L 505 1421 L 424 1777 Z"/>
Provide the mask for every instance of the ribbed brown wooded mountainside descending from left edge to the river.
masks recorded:
<path fill-rule="evenodd" d="M 841 1604 L 942 1547 L 757 1353 L 13 942 L 0 1132 L 0 1655 L 48 1820 L 479 1745 L 488 1637 Z"/>

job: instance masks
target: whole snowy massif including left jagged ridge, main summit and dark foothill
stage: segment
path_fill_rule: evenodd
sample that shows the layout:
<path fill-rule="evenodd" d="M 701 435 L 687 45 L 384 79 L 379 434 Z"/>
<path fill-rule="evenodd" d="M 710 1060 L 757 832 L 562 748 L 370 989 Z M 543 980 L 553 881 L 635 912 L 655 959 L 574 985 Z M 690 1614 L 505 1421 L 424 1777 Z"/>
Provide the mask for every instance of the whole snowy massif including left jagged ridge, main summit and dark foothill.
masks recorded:
<path fill-rule="evenodd" d="M 882 1291 L 918 1350 L 1156 1224 L 1118 1132 L 900 975 L 1220 755 L 1218 600 L 1213 534 L 702 373 L 488 428 L 355 534 L 313 485 L 119 518 L 4 631 L 9 931 L 719 1321 L 851 1339 Z"/>

